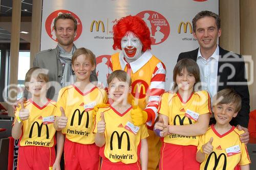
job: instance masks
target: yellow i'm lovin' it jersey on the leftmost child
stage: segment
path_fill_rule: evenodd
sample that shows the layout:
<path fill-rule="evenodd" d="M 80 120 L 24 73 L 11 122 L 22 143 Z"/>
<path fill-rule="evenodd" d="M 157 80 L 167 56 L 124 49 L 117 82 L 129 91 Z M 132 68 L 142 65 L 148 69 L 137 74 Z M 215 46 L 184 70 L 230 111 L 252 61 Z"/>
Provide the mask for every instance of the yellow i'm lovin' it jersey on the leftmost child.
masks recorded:
<path fill-rule="evenodd" d="M 31 99 L 24 102 L 24 107 L 29 109 L 29 118 L 23 121 L 22 136 L 19 138 L 19 145 L 24 146 L 40 146 L 40 147 L 53 147 L 55 145 L 55 132 L 56 130 L 52 124 L 43 125 L 42 118 L 54 116 L 56 111 L 56 102 L 48 100 L 45 106 L 38 106 Z M 21 105 L 15 112 L 15 121 L 18 116 Z"/>

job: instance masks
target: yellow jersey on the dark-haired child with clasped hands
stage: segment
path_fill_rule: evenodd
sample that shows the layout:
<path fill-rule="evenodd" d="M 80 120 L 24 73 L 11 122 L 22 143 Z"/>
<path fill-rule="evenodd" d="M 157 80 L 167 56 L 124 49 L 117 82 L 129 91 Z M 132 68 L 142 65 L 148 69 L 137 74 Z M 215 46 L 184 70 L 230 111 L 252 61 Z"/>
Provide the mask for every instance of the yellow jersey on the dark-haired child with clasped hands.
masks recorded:
<path fill-rule="evenodd" d="M 199 115 L 210 113 L 209 94 L 204 90 L 197 91 L 184 102 L 179 93 L 164 93 L 161 96 L 158 113 L 169 117 L 169 125 L 195 124 Z M 198 136 L 170 134 L 164 137 L 164 142 L 197 146 Z"/>

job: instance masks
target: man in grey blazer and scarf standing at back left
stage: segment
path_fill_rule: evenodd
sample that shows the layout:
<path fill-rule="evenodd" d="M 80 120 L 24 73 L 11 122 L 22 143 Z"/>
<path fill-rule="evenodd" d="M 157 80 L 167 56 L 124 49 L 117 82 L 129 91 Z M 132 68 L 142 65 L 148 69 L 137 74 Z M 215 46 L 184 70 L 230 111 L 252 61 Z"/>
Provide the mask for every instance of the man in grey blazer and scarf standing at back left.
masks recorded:
<path fill-rule="evenodd" d="M 58 15 L 54 20 L 54 31 L 58 45 L 54 49 L 37 53 L 34 59 L 33 66 L 49 70 L 49 80 L 52 83 L 52 87 L 47 93 L 49 99 L 57 100 L 59 89 L 72 84 L 74 81 L 71 58 L 76 50 L 73 43 L 76 29 L 77 21 L 74 16 L 68 13 Z M 97 81 L 95 70 L 92 71 L 90 81 Z"/>

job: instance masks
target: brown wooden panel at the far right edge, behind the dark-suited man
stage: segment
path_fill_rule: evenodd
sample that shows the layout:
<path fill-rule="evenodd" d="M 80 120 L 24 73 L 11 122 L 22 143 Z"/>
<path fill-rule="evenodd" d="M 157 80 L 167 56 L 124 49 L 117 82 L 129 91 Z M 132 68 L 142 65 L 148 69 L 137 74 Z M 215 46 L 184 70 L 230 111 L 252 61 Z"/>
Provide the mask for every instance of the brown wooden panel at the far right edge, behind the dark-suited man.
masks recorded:
<path fill-rule="evenodd" d="M 256 81 L 256 1 L 255 0 L 241 0 L 240 1 L 240 20 L 241 20 L 241 54 L 251 55 L 254 61 L 254 70 L 247 73 L 249 80 L 251 78 Z M 248 80 L 248 81 L 249 81 Z M 252 80 L 251 80 L 252 81 Z M 256 109 L 256 85 L 251 82 L 249 85 L 250 92 L 250 110 Z"/>

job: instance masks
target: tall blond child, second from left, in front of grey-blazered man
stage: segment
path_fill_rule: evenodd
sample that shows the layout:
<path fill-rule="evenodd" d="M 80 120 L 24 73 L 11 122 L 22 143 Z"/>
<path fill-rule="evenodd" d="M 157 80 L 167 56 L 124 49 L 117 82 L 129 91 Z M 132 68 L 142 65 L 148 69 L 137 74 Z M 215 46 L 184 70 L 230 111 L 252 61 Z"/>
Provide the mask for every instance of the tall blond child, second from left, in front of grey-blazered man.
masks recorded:
<path fill-rule="evenodd" d="M 95 69 L 94 54 L 86 48 L 78 48 L 72 56 L 72 69 L 76 82 L 59 91 L 55 128 L 65 135 L 65 142 L 57 135 L 57 156 L 60 161 L 64 143 L 66 169 L 99 168 L 99 148 L 95 145 L 94 110 L 97 104 L 106 103 L 103 89 L 90 82 L 91 71 Z M 57 165 L 56 165 L 57 166 Z M 58 165 L 59 166 L 59 165 Z"/>

